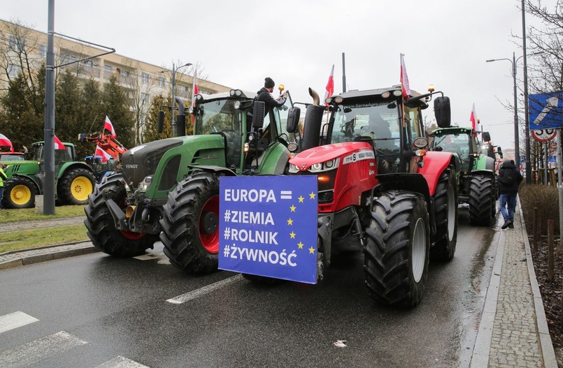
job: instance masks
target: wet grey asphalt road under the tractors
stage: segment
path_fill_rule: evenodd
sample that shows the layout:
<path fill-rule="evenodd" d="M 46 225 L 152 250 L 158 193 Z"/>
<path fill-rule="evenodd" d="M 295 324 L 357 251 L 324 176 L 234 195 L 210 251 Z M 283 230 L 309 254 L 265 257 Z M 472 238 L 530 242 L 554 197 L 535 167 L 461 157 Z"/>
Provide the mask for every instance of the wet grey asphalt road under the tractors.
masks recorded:
<path fill-rule="evenodd" d="M 373 302 L 359 254 L 316 286 L 190 277 L 158 247 L 142 259 L 93 253 L 2 270 L 0 367 L 464 367 L 493 237 L 460 209 L 455 258 L 430 264 L 415 309 Z"/>

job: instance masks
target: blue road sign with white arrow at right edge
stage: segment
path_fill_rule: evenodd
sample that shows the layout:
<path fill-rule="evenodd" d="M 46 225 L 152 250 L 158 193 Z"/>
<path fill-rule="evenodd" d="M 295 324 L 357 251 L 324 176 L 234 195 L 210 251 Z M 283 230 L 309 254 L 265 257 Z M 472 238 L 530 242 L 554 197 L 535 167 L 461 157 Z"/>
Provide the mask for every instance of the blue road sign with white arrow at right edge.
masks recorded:
<path fill-rule="evenodd" d="M 528 115 L 532 131 L 563 127 L 563 91 L 529 95 Z"/>

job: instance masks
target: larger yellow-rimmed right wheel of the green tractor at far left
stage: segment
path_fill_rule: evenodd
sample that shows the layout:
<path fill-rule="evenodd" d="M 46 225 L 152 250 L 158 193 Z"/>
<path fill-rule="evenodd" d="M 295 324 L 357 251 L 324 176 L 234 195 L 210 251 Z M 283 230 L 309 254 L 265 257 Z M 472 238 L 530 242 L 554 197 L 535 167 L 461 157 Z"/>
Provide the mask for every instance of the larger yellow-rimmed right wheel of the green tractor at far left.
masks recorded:
<path fill-rule="evenodd" d="M 59 198 L 67 205 L 85 205 L 95 185 L 96 177 L 90 170 L 85 168 L 70 170 L 59 179 Z"/>

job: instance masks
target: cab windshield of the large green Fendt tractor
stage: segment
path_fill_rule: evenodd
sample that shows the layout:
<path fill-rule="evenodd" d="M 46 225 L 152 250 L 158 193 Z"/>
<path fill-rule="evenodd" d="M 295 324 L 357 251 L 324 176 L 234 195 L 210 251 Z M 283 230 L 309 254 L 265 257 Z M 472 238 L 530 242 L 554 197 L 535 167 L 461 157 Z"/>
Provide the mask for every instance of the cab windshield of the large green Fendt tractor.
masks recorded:
<path fill-rule="evenodd" d="M 234 102 L 218 100 L 199 105 L 194 134 L 240 131 L 240 110 L 234 108 Z"/>

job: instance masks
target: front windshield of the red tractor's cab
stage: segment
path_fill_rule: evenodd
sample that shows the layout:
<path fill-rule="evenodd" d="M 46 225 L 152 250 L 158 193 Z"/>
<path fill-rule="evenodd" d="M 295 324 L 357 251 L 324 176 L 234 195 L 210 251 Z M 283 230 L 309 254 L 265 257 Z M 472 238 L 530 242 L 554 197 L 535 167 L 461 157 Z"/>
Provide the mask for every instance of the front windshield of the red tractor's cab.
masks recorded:
<path fill-rule="evenodd" d="M 351 142 L 359 137 L 375 141 L 377 149 L 399 150 L 399 110 L 389 101 L 336 105 L 331 143 Z M 330 132 L 329 132 L 330 133 Z"/>

